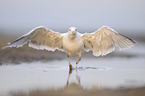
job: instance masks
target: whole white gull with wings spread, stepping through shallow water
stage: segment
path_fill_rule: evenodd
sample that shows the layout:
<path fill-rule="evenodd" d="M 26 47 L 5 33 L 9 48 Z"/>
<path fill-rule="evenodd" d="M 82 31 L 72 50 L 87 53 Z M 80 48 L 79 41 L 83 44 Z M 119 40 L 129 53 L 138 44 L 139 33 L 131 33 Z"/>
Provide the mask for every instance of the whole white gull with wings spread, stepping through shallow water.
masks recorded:
<path fill-rule="evenodd" d="M 69 56 L 78 56 L 76 64 L 81 60 L 82 52 L 92 51 L 94 56 L 104 56 L 115 50 L 127 49 L 133 46 L 134 40 L 117 33 L 108 26 L 102 26 L 95 32 L 81 34 L 77 28 L 70 27 L 67 33 L 55 32 L 44 26 L 39 26 L 29 33 L 19 37 L 15 41 L 8 43 L 7 47 L 28 46 L 38 50 L 63 51 L 67 54 L 69 68 L 72 69 Z"/>

